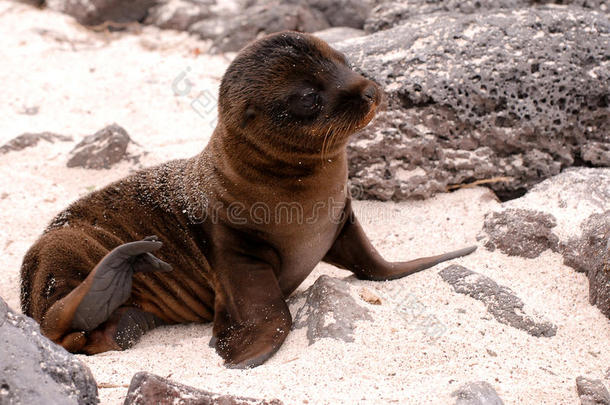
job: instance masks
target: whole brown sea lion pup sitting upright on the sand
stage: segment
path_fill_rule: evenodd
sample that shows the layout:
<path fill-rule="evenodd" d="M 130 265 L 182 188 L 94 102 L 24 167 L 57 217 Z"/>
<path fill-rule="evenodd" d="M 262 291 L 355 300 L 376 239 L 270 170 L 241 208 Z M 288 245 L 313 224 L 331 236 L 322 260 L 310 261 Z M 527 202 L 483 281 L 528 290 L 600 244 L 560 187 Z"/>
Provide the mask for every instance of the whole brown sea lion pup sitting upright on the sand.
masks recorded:
<path fill-rule="evenodd" d="M 52 221 L 24 258 L 23 312 L 88 354 L 126 349 L 161 324 L 213 321 L 227 366 L 251 367 L 286 338 L 286 298 L 320 261 L 389 280 L 471 253 L 389 263 L 364 234 L 345 146 L 380 99 L 311 35 L 250 44 L 222 79 L 203 152 L 95 191 Z"/>

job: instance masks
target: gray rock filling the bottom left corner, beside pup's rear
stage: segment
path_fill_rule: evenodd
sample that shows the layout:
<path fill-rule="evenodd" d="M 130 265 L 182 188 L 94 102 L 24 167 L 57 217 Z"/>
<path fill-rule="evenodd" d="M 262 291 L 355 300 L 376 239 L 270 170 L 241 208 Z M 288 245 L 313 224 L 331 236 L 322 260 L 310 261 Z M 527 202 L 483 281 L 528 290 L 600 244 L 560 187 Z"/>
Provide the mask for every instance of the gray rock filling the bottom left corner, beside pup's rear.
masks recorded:
<path fill-rule="evenodd" d="M 0 298 L 0 404 L 97 403 L 89 368 Z"/>

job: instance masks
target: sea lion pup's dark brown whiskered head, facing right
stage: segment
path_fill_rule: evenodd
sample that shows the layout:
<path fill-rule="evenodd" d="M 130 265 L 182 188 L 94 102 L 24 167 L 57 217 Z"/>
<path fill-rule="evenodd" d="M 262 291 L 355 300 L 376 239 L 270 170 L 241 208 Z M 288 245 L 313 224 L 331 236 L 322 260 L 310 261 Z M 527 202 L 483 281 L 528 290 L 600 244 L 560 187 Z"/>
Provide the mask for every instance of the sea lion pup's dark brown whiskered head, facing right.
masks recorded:
<path fill-rule="evenodd" d="M 381 90 L 308 34 L 281 32 L 244 48 L 220 85 L 219 122 L 286 152 L 327 154 L 375 115 Z"/>

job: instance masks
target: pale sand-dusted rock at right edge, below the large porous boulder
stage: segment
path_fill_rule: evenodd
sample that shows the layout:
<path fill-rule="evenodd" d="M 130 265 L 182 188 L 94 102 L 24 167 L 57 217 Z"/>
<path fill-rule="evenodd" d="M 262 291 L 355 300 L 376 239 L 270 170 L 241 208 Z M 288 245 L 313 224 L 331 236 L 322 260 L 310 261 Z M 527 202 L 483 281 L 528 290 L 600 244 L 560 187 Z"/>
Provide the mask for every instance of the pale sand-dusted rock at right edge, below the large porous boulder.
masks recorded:
<path fill-rule="evenodd" d="M 610 318 L 610 168 L 572 167 L 538 183 L 487 214 L 478 239 L 524 257 L 560 253 L 586 273 L 591 304 Z"/>

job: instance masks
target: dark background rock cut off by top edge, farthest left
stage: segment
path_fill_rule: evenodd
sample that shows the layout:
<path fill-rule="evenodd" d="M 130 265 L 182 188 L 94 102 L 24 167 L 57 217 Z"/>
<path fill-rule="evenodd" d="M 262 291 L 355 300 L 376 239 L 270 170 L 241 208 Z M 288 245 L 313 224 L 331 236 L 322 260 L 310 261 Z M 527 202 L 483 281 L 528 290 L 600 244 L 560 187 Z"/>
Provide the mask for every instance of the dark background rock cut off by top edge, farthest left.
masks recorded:
<path fill-rule="evenodd" d="M 142 22 L 157 0 L 46 0 L 52 10 L 71 15 L 83 25 Z"/>

